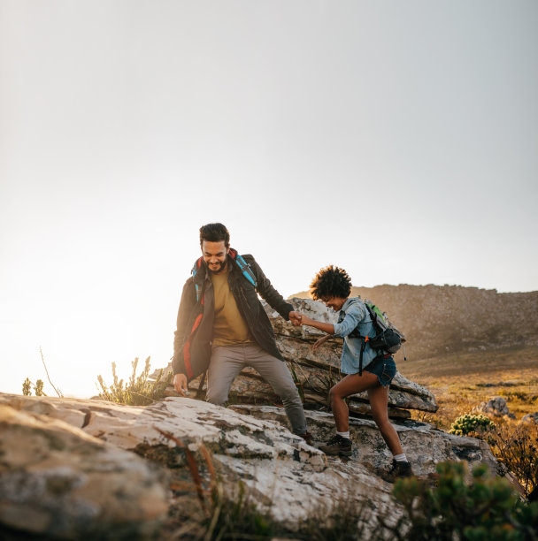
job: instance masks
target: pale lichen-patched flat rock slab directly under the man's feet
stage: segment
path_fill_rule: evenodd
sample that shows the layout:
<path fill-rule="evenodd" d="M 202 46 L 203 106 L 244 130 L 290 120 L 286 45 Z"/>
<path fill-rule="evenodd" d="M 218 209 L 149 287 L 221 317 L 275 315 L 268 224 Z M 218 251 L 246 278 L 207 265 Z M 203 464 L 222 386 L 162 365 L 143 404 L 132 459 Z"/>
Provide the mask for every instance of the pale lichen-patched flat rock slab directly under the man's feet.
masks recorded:
<path fill-rule="evenodd" d="M 47 417 L 73 423 L 86 434 L 121 449 L 169 445 L 160 430 L 182 438 L 185 445 L 203 443 L 211 452 L 227 456 L 296 460 L 299 450 L 302 453 L 300 460 L 315 465 L 324 457 L 280 424 L 240 415 L 199 400 L 169 398 L 151 406 L 135 407 L 101 400 L 0 394 L 0 404 L 9 404 L 22 411 L 35 410 L 35 402 L 42 402 L 39 408 L 48 411 Z"/>

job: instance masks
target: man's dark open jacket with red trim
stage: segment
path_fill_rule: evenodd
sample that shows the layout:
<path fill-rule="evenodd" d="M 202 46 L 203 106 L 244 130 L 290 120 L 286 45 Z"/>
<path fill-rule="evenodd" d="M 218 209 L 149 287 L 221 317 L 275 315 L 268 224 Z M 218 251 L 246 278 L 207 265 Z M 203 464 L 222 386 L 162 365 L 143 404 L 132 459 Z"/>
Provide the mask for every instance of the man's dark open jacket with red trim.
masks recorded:
<path fill-rule="evenodd" d="M 234 295 L 237 308 L 249 325 L 250 333 L 257 344 L 269 354 L 284 359 L 279 352 L 269 317 L 265 313 L 257 293 L 269 303 L 282 317 L 288 319 L 293 306 L 284 301 L 279 293 L 265 277 L 252 255 L 242 256 L 254 273 L 257 281 L 256 289 L 244 278 L 238 265 L 228 257 L 231 271 L 228 275 L 230 291 Z M 196 287 L 203 293 L 196 300 Z M 200 375 L 209 366 L 211 359 L 211 340 L 214 318 L 214 295 L 207 265 L 202 262 L 195 277 L 188 278 L 181 293 L 178 311 L 177 330 L 173 339 L 173 373 L 185 374 L 188 379 Z"/>

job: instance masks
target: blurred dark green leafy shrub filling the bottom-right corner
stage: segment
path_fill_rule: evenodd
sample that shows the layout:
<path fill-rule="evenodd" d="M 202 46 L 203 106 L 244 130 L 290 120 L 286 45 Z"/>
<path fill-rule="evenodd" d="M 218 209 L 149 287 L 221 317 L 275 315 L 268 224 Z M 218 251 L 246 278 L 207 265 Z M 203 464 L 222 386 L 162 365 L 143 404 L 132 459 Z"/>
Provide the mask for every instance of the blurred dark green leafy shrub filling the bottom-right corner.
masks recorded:
<path fill-rule="evenodd" d="M 485 465 L 473 469 L 470 483 L 466 462 L 437 465 L 437 488 L 416 478 L 396 481 L 394 497 L 405 514 L 393 529 L 396 537 L 469 541 L 535 539 L 538 503 L 521 502 L 506 479 L 491 476 Z"/>

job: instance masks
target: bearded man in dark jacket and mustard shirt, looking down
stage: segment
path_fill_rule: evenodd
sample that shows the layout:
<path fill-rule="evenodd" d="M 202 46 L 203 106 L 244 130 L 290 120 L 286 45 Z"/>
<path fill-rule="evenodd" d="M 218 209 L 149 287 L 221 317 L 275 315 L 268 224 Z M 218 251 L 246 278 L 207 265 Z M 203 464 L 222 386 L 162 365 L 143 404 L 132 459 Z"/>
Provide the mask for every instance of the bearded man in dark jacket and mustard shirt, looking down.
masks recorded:
<path fill-rule="evenodd" d="M 222 405 L 245 366 L 257 370 L 284 404 L 293 431 L 311 443 L 303 404 L 274 339 L 257 293 L 282 317 L 300 324 L 254 260 L 230 248 L 222 224 L 200 228 L 202 257 L 181 294 L 173 341 L 173 385 L 185 396 L 188 380 L 208 370 L 206 400 Z"/>

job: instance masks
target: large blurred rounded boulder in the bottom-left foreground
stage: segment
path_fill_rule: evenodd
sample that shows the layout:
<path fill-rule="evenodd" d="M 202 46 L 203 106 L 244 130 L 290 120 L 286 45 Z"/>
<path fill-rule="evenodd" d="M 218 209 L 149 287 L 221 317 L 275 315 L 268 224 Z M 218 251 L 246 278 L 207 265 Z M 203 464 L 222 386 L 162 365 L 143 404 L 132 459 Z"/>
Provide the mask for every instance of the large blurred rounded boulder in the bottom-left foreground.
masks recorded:
<path fill-rule="evenodd" d="M 143 538 L 158 529 L 168 510 L 162 469 L 73 427 L 73 408 L 63 421 L 48 400 L 2 399 L 0 524 L 51 538 Z"/>

